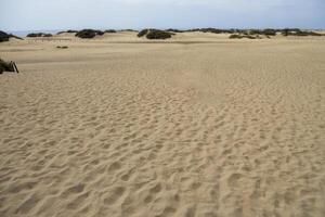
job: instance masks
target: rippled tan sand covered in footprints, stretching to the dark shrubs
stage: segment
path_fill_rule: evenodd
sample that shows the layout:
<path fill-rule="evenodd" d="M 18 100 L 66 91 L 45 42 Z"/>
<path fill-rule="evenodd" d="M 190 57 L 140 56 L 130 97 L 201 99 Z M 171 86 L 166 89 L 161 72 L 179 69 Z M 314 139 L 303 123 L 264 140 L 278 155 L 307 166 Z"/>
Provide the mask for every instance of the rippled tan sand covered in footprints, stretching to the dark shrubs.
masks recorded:
<path fill-rule="evenodd" d="M 21 69 L 0 76 L 1 217 L 325 216 L 325 37 L 0 54 Z"/>

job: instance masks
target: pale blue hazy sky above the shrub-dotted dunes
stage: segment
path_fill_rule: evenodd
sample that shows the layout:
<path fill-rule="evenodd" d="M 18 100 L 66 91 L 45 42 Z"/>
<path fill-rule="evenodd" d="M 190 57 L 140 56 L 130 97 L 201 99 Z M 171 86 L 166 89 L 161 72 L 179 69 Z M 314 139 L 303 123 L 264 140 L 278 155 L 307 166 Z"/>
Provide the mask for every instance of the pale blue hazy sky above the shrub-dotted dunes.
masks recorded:
<path fill-rule="evenodd" d="M 0 0 L 0 29 L 325 29 L 325 0 Z"/>

